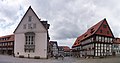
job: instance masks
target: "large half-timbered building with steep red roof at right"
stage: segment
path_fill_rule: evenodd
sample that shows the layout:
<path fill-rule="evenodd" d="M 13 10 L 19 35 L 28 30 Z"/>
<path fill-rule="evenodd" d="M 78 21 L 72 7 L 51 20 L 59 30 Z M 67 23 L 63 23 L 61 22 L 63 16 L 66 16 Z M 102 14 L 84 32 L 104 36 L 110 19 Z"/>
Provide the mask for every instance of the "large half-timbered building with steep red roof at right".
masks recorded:
<path fill-rule="evenodd" d="M 114 35 L 106 19 L 79 36 L 72 46 L 73 56 L 105 57 L 112 55 Z"/>

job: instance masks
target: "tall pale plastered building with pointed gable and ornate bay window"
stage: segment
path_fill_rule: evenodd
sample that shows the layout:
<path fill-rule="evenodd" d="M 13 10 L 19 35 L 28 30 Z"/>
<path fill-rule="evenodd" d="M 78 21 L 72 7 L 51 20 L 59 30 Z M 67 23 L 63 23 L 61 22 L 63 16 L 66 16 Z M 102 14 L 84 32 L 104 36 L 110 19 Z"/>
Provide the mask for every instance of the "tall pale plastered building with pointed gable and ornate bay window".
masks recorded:
<path fill-rule="evenodd" d="M 15 57 L 47 58 L 50 40 L 47 21 L 41 21 L 31 6 L 14 31 Z"/>

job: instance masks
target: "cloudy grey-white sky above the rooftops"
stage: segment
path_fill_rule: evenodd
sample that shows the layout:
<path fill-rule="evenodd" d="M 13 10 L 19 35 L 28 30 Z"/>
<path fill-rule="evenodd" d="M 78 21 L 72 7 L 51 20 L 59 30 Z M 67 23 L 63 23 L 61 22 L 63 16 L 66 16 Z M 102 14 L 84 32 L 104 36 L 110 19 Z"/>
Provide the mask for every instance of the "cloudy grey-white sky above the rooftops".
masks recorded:
<path fill-rule="evenodd" d="M 51 25 L 51 40 L 72 46 L 88 28 L 106 18 L 115 37 L 120 37 L 119 0 L 0 0 L 0 36 L 12 34 L 31 5 Z"/>

